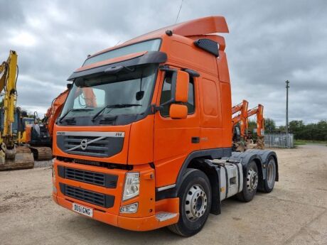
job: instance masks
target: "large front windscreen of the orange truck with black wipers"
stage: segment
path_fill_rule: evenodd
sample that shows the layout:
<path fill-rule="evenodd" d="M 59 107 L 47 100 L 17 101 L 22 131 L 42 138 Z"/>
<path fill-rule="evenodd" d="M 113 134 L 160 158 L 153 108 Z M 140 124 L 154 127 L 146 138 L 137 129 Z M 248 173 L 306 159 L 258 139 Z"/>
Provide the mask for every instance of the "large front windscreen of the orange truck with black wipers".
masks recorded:
<path fill-rule="evenodd" d="M 158 65 L 125 67 L 114 75 L 78 77 L 60 117 L 142 114 L 149 107 Z"/>

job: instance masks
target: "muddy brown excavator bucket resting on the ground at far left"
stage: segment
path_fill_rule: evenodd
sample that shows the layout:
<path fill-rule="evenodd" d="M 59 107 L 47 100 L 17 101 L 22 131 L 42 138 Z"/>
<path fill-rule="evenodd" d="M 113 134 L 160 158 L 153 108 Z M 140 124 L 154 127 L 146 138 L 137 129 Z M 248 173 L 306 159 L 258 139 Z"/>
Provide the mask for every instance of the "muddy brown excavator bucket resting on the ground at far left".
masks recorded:
<path fill-rule="evenodd" d="M 18 146 L 13 158 L 10 159 L 4 151 L 0 151 L 0 171 L 18 170 L 34 167 L 33 153 L 27 147 Z"/>

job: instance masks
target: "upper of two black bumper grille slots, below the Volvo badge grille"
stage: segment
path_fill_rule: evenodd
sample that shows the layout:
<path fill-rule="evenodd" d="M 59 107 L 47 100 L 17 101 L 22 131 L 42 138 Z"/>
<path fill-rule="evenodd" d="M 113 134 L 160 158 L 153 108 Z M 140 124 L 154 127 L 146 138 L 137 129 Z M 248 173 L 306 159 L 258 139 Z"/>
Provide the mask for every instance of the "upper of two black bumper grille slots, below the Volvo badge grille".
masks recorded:
<path fill-rule="evenodd" d="M 117 175 L 109 175 L 76 168 L 68 168 L 61 165 L 58 165 L 58 175 L 61 178 L 90 183 L 92 185 L 100 185 L 107 188 L 117 187 Z"/>

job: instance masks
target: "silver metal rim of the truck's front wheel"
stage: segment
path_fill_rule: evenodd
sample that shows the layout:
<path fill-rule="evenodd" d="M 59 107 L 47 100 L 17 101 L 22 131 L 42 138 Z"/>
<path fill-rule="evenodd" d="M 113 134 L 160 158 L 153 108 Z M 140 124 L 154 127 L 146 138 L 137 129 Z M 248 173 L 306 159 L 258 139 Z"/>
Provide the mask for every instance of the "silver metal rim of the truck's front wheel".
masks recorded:
<path fill-rule="evenodd" d="M 207 195 L 201 185 L 193 185 L 186 195 L 185 212 L 186 217 L 194 221 L 205 214 L 207 209 Z"/>

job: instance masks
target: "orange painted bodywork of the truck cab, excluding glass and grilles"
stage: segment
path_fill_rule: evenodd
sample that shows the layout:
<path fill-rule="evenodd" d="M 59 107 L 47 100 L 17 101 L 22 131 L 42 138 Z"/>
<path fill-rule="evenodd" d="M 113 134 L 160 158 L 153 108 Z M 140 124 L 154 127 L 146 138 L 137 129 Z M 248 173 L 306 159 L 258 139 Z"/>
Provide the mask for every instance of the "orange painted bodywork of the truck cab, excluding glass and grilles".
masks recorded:
<path fill-rule="evenodd" d="M 173 31 L 173 35 L 166 35 L 166 30 Z M 161 65 L 168 65 L 170 68 L 176 70 L 188 68 L 195 70 L 200 75 L 199 77 L 193 77 L 195 111 L 192 114 L 188 114 L 185 119 L 172 119 L 169 116 L 162 116 L 159 111 L 156 111 L 139 121 L 122 126 L 55 125 L 54 136 L 57 131 L 124 132 L 124 146 L 122 151 L 109 158 L 77 156 L 65 153 L 57 147 L 56 137 L 53 137 L 53 154 L 58 157 L 133 165 L 133 170 L 131 171 L 139 172 L 141 178 L 139 196 L 122 202 L 124 175 L 127 173 L 127 170 L 64 163 L 56 159 L 54 163 L 55 168 L 57 165 L 69 165 L 70 168 L 118 175 L 119 179 L 116 189 L 106 189 L 87 183 L 62 179 L 56 175 L 55 187 L 57 192 L 54 192 L 53 200 L 68 209 L 72 208 L 72 202 L 92 207 L 94 208 L 94 219 L 125 229 L 137 231 L 149 230 L 178 222 L 178 198 L 156 201 L 156 188 L 175 184 L 181 166 L 193 151 L 232 147 L 232 135 L 230 134 L 232 128 L 232 104 L 230 76 L 224 51 L 225 39 L 222 36 L 208 35 L 227 32 L 228 28 L 225 18 L 211 16 L 162 28 L 129 40 L 122 45 L 117 45 L 114 48 L 102 50 L 100 53 L 121 48 L 124 45 L 136 43 L 141 40 L 161 38 L 160 51 L 166 53 L 168 57 L 165 64 Z M 196 47 L 193 42 L 198 38 L 209 38 L 218 42 L 219 57 L 216 58 L 214 55 L 205 52 L 205 50 Z M 100 53 L 96 53 L 95 55 Z M 127 58 L 121 57 L 117 59 L 121 61 Z M 109 62 L 112 61 L 105 60 L 104 62 L 92 64 L 92 66 L 81 67 L 77 71 L 90 69 L 90 67 L 104 65 L 104 63 L 107 64 Z M 151 104 L 155 104 L 157 107 L 160 105 L 164 76 L 165 72 L 159 70 L 154 83 Z M 183 85 L 181 90 L 185 88 L 186 85 Z M 181 97 L 180 99 L 181 101 L 186 101 L 186 98 Z M 200 142 L 192 143 L 191 139 L 193 137 L 200 138 Z M 75 200 L 71 197 L 65 197 L 60 193 L 59 182 L 95 192 L 114 195 L 114 207 L 105 209 L 96 205 L 90 205 L 87 202 Z M 139 202 L 139 209 L 135 214 L 119 214 L 119 208 L 122 205 L 128 205 L 134 202 Z M 154 216 L 157 212 L 174 212 L 177 216 L 173 219 L 159 222 Z"/>

